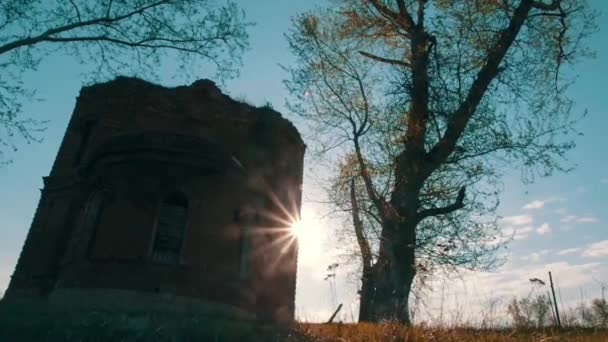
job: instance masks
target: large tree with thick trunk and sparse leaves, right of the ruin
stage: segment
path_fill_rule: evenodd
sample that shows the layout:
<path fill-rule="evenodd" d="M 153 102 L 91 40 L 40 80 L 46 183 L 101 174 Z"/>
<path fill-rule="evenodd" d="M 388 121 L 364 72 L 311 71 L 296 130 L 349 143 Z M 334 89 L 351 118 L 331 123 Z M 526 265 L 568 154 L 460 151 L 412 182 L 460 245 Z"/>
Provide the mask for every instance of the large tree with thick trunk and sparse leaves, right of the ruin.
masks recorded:
<path fill-rule="evenodd" d="M 373 275 L 363 319 L 409 323 L 417 272 L 496 261 L 503 170 L 570 167 L 580 116 L 563 69 L 587 55 L 594 14 L 582 0 L 335 3 L 294 20 L 290 106 L 338 165 L 330 201 Z"/>

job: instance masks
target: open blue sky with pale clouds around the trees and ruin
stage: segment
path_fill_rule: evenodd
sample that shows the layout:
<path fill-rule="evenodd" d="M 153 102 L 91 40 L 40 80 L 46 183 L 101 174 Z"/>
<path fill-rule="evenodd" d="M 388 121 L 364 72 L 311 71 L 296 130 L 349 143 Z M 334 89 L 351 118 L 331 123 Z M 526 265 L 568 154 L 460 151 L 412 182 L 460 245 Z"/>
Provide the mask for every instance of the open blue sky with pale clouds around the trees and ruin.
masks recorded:
<path fill-rule="evenodd" d="M 275 109 L 289 113 L 284 107 L 288 96 L 282 85 L 285 73 L 279 64 L 289 64 L 283 34 L 289 29 L 290 17 L 310 9 L 318 1 L 256 0 L 240 1 L 248 19 L 257 23 L 250 29 L 251 50 L 244 56 L 244 67 L 238 79 L 228 81 L 224 92 L 246 98 L 257 105 L 270 102 Z M 570 160 L 577 168 L 568 174 L 556 174 L 523 185 L 518 171 L 507 171 L 499 212 L 501 227 L 515 236 L 508 251 L 508 261 L 494 273 L 467 273 L 460 279 L 437 279 L 437 287 L 447 288 L 447 298 L 458 298 L 451 305 L 469 307 L 483 305 L 492 296 L 503 298 L 525 295 L 531 287 L 527 279 L 546 277 L 552 270 L 560 285 L 565 305 L 585 296 L 598 296 L 599 282 L 608 283 L 608 151 L 605 146 L 608 127 L 606 113 L 608 76 L 608 2 L 591 0 L 592 7 L 602 12 L 599 33 L 590 45 L 597 57 L 578 65 L 577 83 L 570 89 L 576 111 L 588 110 L 579 129 L 577 148 Z M 25 77 L 25 86 L 37 90 L 36 101 L 25 106 L 26 113 L 49 120 L 40 144 L 18 144 L 12 153 L 13 163 L 0 168 L 0 292 L 6 288 L 39 199 L 42 177 L 48 175 L 63 137 L 76 96 L 83 85 L 81 66 L 68 56 L 51 55 L 35 72 Z M 175 80 L 170 67 L 163 68 L 160 83 L 177 85 L 196 78 L 210 77 L 201 72 L 188 80 Z M 296 123 L 298 125 L 298 123 Z M 302 128 L 302 127 L 301 127 Z M 307 159 L 307 169 L 313 161 Z M 329 316 L 334 303 L 330 286 L 324 281 L 325 269 L 335 258 L 333 223 L 319 220 L 323 208 L 307 198 L 318 196 L 318 189 L 307 173 L 304 184 L 303 212 L 316 225 L 315 238 L 301 242 L 303 258 L 299 265 L 297 313 L 303 319 L 322 320 Z M 338 302 L 346 304 L 343 319 L 356 312 L 356 284 L 346 269 L 338 270 L 336 292 Z M 448 284 L 449 286 L 446 286 Z M 451 291 L 451 292 L 450 292 Z M 437 318 L 437 295 L 428 294 L 423 307 L 425 317 Z M 465 294 L 466 296 L 463 296 Z M 464 299 L 466 298 L 466 300 Z"/>

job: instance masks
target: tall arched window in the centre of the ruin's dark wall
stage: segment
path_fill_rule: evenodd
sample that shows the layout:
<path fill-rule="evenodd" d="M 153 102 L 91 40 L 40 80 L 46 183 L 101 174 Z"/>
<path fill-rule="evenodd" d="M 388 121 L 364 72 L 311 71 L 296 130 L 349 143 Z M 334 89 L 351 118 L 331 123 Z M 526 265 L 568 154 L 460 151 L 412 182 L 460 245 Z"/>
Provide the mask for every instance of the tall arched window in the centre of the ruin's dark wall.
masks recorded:
<path fill-rule="evenodd" d="M 172 193 L 162 200 L 152 247 L 153 261 L 162 264 L 179 263 L 187 218 L 188 200 L 184 194 Z"/>

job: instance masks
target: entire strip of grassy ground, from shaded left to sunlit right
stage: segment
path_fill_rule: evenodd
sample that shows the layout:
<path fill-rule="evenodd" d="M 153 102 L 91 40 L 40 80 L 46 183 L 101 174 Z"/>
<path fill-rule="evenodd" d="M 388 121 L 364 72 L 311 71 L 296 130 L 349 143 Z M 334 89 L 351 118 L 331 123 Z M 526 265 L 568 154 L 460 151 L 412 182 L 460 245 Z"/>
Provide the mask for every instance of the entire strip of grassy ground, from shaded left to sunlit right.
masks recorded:
<path fill-rule="evenodd" d="M 608 341 L 592 329 L 475 330 L 397 324 L 272 326 L 196 316 L 151 314 L 0 315 L 0 341 Z"/>

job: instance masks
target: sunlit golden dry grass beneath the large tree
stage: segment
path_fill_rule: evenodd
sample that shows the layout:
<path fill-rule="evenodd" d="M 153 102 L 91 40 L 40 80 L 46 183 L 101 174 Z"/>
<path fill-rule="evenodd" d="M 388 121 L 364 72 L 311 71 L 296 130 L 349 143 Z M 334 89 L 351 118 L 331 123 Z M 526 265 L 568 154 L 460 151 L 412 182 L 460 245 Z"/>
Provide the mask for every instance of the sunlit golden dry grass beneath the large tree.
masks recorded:
<path fill-rule="evenodd" d="M 311 324 L 300 323 L 292 341 L 608 341 L 607 330 L 594 329 L 503 329 L 406 328 L 398 324 Z"/>

